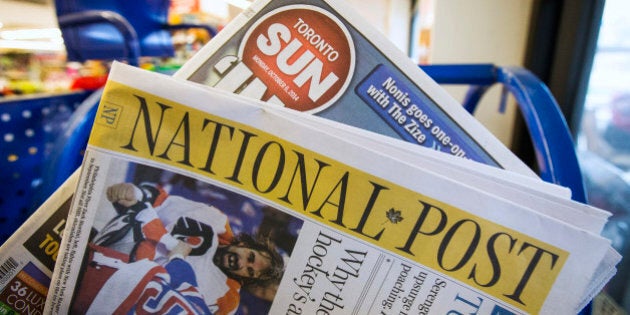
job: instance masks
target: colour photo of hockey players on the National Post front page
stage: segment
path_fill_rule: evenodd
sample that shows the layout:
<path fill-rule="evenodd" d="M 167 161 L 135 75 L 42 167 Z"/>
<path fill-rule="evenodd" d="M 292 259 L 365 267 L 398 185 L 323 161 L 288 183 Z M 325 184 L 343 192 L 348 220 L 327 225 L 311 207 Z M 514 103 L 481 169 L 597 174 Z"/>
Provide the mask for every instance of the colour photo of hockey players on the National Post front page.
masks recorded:
<path fill-rule="evenodd" d="M 301 220 L 142 165 L 131 165 L 126 177 L 103 192 L 103 212 L 113 216 L 94 228 L 73 312 L 248 314 L 270 307 Z"/>

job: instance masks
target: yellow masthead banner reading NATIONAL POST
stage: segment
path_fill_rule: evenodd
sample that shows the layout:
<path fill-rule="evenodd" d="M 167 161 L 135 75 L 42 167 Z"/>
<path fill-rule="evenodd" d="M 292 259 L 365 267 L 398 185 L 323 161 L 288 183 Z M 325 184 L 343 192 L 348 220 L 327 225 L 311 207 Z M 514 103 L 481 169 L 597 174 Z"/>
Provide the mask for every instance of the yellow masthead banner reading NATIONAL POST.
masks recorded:
<path fill-rule="evenodd" d="M 90 145 L 247 191 L 531 313 L 540 310 L 568 258 L 564 250 L 279 136 L 111 80 Z"/>

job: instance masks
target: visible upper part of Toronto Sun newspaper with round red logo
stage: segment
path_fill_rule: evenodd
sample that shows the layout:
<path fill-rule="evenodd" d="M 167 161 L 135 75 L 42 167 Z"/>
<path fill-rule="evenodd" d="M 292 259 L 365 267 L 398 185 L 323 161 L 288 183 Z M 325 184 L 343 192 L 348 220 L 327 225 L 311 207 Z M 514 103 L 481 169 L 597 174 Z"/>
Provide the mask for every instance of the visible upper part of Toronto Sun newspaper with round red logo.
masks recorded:
<path fill-rule="evenodd" d="M 175 76 L 536 176 L 344 1 L 256 1 Z"/>

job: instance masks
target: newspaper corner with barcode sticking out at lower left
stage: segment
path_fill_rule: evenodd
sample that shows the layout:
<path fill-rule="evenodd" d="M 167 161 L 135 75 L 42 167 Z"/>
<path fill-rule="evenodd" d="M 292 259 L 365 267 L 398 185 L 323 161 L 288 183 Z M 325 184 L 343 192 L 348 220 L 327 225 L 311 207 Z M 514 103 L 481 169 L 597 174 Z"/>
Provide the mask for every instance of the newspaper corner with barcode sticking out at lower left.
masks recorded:
<path fill-rule="evenodd" d="M 0 247 L 0 313 L 43 313 L 78 179 L 72 174 Z"/>

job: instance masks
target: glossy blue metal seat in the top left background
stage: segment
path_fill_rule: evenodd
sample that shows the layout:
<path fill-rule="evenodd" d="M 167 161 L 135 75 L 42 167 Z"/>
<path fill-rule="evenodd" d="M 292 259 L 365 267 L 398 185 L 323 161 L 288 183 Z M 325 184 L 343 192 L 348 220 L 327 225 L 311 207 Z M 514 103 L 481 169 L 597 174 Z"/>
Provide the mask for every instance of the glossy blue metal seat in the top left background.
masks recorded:
<path fill-rule="evenodd" d="M 124 60 L 138 65 L 141 56 L 172 57 L 171 32 L 206 24 L 168 24 L 170 0 L 56 0 L 59 27 L 68 60 Z"/>

